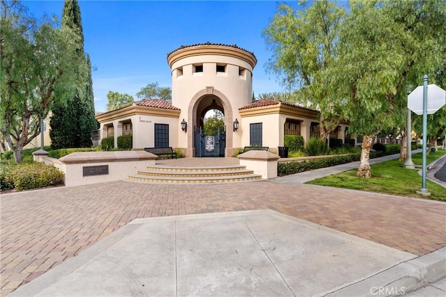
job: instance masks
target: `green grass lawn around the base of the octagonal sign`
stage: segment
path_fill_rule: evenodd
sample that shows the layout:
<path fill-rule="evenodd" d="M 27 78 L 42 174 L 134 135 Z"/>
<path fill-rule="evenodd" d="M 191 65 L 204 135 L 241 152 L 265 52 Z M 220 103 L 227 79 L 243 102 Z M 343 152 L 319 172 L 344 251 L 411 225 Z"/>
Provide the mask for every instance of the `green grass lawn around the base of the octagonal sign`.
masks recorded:
<path fill-rule="evenodd" d="M 444 154 L 446 154 L 446 150 L 429 154 L 427 163 L 431 163 Z M 421 166 L 422 153 L 414 154 L 412 161 L 415 165 Z M 418 175 L 418 170 L 403 168 L 403 163 L 395 159 L 371 165 L 372 177 L 369 179 L 356 177 L 357 170 L 353 169 L 337 175 L 314 179 L 308 184 L 446 201 L 446 188 L 429 179 L 426 179 L 426 188 L 431 195 L 429 197 L 418 195 L 417 191 L 422 187 L 422 177 Z"/>

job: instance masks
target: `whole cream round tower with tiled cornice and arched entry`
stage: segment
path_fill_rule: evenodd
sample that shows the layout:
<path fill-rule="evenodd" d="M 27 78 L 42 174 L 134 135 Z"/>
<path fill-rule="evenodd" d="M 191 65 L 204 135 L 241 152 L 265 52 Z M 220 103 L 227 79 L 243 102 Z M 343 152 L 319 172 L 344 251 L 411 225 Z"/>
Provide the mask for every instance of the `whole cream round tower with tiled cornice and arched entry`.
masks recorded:
<path fill-rule="evenodd" d="M 178 135 L 178 147 L 186 156 L 202 156 L 199 129 L 206 112 L 218 109 L 226 126 L 222 150 L 224 156 L 233 156 L 242 139 L 242 131 L 234 129 L 234 122 L 241 120 L 238 109 L 252 103 L 254 54 L 236 45 L 207 42 L 181 46 L 167 54 L 167 62 L 171 67 L 172 104 L 181 110 L 179 120 L 187 123 L 187 129 Z"/>

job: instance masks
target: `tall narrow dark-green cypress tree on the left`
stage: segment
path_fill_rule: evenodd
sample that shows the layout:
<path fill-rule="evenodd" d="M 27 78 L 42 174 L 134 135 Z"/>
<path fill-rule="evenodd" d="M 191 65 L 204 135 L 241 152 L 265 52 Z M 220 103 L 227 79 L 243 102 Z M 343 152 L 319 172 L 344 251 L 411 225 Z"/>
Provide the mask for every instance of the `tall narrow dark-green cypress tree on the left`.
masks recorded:
<path fill-rule="evenodd" d="M 62 26 L 66 26 L 79 36 L 77 45 L 77 86 L 72 97 L 64 104 L 52 108 L 49 136 L 54 149 L 63 147 L 90 147 L 91 131 L 98 129 L 95 120 L 93 82 L 91 80 L 90 57 L 84 55 L 84 31 L 81 11 L 77 0 L 66 0 L 63 6 Z"/>

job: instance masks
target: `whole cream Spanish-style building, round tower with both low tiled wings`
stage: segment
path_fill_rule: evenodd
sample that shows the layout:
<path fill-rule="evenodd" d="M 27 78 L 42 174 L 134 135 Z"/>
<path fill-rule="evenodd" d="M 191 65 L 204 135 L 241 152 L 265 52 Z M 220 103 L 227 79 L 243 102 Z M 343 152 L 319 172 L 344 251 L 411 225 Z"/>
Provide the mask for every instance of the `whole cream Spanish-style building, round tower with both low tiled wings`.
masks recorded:
<path fill-rule="evenodd" d="M 252 102 L 252 71 L 257 59 L 236 45 L 182 46 L 167 54 L 172 101 L 134 102 L 96 115 L 100 138 L 132 134 L 134 149 L 174 147 L 185 156 L 233 156 L 245 146 L 284 145 L 285 134 L 318 136 L 319 113 L 275 99 Z M 203 136 L 204 115 L 222 111 L 226 131 Z M 344 141 L 348 123 L 332 138 Z"/>

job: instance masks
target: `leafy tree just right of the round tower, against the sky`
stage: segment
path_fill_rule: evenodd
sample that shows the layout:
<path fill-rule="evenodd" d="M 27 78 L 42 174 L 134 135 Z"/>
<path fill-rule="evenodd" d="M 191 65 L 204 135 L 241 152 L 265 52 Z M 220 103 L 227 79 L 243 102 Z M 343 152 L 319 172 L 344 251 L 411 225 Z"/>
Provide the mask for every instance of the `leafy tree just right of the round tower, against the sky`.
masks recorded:
<path fill-rule="evenodd" d="M 337 56 L 344 16 L 344 8 L 328 0 L 300 1 L 298 9 L 282 4 L 263 31 L 273 52 L 268 69 L 279 74 L 289 90 L 298 91 L 293 97 L 301 99 L 295 103 L 321 111 L 319 131 L 324 141 L 342 120 L 329 78 L 322 74 Z"/>

